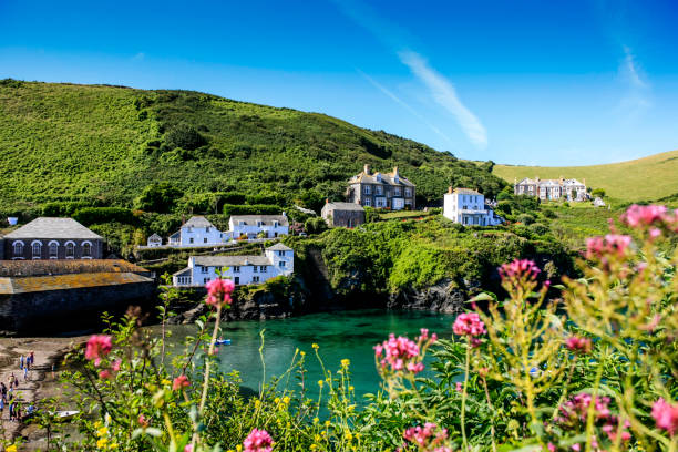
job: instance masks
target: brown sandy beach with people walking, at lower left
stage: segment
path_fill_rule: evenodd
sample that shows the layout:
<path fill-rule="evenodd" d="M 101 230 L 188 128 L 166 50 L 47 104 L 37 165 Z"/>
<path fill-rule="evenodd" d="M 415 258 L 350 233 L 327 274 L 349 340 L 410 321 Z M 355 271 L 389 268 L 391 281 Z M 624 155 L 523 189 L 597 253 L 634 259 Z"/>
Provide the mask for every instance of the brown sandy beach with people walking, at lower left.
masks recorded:
<path fill-rule="evenodd" d="M 19 387 L 14 389 L 23 410 L 30 403 L 37 403 L 42 399 L 61 394 L 62 388 L 59 383 L 61 361 L 65 352 L 73 345 L 86 341 L 88 337 L 72 338 L 0 338 L 0 381 L 9 388 L 10 376 L 13 373 L 19 380 Z M 34 352 L 35 362 L 32 366 L 28 380 L 23 378 L 23 371 L 19 367 L 20 357 Z M 52 372 L 52 364 L 55 372 Z M 0 412 L 1 425 L 7 440 L 22 438 L 22 451 L 45 449 L 45 431 L 32 423 L 22 423 L 9 420 L 9 407 Z"/>

